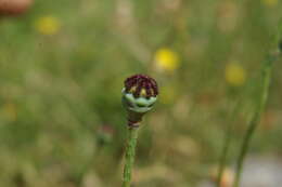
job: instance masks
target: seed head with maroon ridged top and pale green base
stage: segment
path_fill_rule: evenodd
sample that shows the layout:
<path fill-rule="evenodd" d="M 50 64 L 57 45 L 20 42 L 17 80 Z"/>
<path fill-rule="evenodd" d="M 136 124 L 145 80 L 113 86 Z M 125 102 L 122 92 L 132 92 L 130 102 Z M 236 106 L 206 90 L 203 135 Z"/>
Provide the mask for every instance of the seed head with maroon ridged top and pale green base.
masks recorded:
<path fill-rule="evenodd" d="M 123 104 L 128 111 L 129 125 L 137 125 L 157 99 L 157 83 L 153 78 L 134 75 L 125 80 Z"/>

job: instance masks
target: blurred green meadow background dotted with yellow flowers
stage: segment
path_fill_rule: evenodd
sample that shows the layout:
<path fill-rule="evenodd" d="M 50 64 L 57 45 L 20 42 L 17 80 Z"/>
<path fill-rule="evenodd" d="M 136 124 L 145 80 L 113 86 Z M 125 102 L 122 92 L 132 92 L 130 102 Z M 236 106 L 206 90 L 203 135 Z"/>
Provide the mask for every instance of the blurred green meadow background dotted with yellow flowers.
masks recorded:
<path fill-rule="evenodd" d="M 230 187 L 281 17 L 279 0 L 36 0 L 21 15 L 2 15 L 0 186 L 120 186 L 120 91 L 141 72 L 161 95 L 140 131 L 134 187 L 213 185 L 232 125 L 222 184 Z M 282 176 L 281 63 L 245 181 L 265 172 L 262 162 L 280 165 L 266 175 Z"/>

